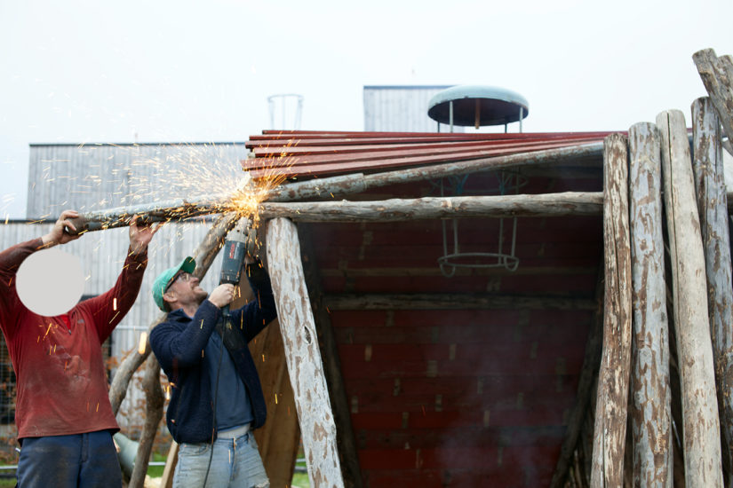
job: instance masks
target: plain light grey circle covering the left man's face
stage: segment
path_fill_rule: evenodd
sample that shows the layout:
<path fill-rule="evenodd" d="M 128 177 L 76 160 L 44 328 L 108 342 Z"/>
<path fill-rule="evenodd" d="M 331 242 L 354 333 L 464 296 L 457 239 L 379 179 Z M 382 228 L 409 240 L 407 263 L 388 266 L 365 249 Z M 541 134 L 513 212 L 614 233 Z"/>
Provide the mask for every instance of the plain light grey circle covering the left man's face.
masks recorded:
<path fill-rule="evenodd" d="M 82 264 L 60 249 L 36 251 L 20 264 L 15 287 L 28 310 L 45 317 L 62 315 L 84 293 Z"/>

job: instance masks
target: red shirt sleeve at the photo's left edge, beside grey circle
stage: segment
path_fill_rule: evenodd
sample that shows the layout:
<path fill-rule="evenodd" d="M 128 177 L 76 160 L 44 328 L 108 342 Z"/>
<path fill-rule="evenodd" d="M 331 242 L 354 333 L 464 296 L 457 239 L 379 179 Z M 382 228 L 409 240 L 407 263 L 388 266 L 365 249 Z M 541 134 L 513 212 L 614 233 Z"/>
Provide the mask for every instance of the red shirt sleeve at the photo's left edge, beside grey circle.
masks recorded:
<path fill-rule="evenodd" d="M 20 264 L 43 246 L 44 241 L 38 238 L 0 252 L 0 326 L 9 337 L 15 334 L 20 323 L 20 310 L 25 309 L 15 288 L 16 273 Z"/>

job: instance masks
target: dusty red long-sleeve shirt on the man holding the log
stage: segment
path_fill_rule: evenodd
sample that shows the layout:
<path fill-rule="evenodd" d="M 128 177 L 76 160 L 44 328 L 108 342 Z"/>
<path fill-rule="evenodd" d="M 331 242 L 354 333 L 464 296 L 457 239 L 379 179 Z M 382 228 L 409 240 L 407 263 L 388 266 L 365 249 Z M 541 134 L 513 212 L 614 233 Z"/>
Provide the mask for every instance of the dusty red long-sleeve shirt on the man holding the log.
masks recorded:
<path fill-rule="evenodd" d="M 65 315 L 43 317 L 29 311 L 15 289 L 20 264 L 42 246 L 36 239 L 0 252 L 0 328 L 17 378 L 18 438 L 119 429 L 100 346 L 135 302 L 147 253 L 128 253 L 107 293 Z"/>

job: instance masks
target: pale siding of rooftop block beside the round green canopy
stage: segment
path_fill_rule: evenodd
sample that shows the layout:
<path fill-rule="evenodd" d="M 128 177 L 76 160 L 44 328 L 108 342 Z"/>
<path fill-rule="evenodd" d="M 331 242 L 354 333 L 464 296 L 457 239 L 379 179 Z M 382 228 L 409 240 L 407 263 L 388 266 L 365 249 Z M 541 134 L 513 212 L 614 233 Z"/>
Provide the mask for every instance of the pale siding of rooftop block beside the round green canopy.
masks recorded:
<path fill-rule="evenodd" d="M 437 122 L 427 116 L 427 102 L 445 86 L 365 86 L 364 130 L 436 132 Z M 448 132 L 442 126 L 442 132 Z M 454 126 L 454 132 L 464 132 Z"/>

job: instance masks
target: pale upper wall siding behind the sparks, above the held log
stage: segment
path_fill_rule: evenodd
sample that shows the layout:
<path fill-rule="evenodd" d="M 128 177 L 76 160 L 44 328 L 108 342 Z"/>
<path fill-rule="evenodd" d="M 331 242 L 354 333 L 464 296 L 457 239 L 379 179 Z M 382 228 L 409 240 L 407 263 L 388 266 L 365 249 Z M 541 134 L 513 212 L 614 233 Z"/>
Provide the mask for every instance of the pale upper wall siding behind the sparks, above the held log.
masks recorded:
<path fill-rule="evenodd" d="M 234 178 L 246 156 L 243 143 L 31 145 L 26 215 L 191 197 L 195 175 L 213 168 Z"/>

